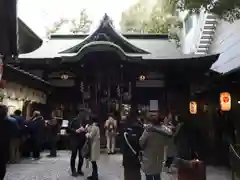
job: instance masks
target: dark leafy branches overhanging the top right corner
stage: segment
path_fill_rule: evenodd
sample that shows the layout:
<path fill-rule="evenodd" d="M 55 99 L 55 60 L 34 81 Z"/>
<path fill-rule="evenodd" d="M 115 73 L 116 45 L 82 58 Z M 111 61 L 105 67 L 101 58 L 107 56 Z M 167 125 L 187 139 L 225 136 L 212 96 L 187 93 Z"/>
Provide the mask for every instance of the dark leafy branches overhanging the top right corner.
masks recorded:
<path fill-rule="evenodd" d="M 233 22 L 240 19 L 240 0 L 175 0 L 180 10 L 196 13 L 205 10 Z"/>

